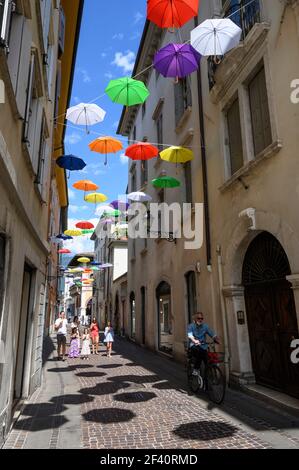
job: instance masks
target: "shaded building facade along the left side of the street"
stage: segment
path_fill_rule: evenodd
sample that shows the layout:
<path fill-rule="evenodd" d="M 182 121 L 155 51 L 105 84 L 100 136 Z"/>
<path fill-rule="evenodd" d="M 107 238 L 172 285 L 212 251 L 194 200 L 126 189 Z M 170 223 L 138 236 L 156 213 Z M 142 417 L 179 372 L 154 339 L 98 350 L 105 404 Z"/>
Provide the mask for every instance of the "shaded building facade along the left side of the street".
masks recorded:
<path fill-rule="evenodd" d="M 56 204 L 51 185 L 63 57 L 60 7 L 50 0 L 0 4 L 0 443 L 20 400 L 41 382 L 47 276 L 49 263 L 55 272 L 57 263 L 51 260 L 48 236 L 51 202 Z M 64 16 L 71 38 L 78 32 L 81 8 L 75 1 L 72 15 Z M 68 88 L 70 74 L 61 76 L 61 83 Z"/>

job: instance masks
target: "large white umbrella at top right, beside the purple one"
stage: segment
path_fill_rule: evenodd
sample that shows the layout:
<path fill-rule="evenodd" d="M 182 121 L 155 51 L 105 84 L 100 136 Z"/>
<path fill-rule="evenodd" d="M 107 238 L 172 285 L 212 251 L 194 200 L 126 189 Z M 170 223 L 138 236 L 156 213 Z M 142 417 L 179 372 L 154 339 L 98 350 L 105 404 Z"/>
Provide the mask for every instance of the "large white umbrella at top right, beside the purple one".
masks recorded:
<path fill-rule="evenodd" d="M 191 46 L 203 56 L 224 55 L 237 47 L 242 29 L 228 18 L 206 20 L 191 31 Z"/>

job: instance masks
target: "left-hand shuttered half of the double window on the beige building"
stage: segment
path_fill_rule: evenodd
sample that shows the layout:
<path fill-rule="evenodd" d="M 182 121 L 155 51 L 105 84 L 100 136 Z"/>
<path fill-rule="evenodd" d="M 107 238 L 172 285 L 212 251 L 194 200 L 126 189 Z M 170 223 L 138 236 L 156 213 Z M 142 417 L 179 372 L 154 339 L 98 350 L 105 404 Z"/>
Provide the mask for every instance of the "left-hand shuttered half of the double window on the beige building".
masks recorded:
<path fill-rule="evenodd" d="M 243 147 L 240 122 L 239 100 L 236 99 L 227 111 L 230 171 L 233 175 L 243 166 Z"/>

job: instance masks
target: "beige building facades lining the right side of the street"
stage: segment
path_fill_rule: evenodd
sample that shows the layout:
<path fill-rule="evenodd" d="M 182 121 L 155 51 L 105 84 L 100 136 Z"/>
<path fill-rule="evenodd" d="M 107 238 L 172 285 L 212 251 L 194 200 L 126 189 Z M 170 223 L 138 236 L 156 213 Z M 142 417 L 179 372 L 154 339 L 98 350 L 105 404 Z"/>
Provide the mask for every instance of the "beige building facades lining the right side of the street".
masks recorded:
<path fill-rule="evenodd" d="M 216 61 L 203 58 L 189 86 L 154 70 L 141 75 L 150 98 L 124 112 L 118 129 L 161 148 L 192 147 L 191 171 L 158 160 L 144 175 L 132 163 L 129 191 L 204 203 L 205 215 L 199 250 L 185 250 L 182 240 L 130 240 L 131 335 L 182 359 L 190 314 L 201 310 L 222 338 L 231 382 L 292 396 L 299 395 L 298 366 L 290 361 L 299 324 L 299 108 L 291 100 L 299 76 L 298 8 L 297 1 L 202 1 L 178 42 L 205 19 L 230 16 L 242 28 L 240 45 Z M 173 35 L 147 23 L 133 75 L 168 42 Z M 149 182 L 161 168 L 181 188 L 157 194 Z"/>

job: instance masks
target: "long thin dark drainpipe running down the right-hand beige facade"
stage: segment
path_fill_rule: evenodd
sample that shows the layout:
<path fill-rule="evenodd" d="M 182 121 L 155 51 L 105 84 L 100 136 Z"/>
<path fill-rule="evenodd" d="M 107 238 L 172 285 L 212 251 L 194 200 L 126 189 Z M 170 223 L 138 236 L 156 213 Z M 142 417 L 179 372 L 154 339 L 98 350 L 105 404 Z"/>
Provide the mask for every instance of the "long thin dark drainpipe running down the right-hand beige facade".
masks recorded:
<path fill-rule="evenodd" d="M 194 24 L 196 28 L 198 26 L 198 17 L 194 18 Z M 211 272 L 211 265 L 212 265 L 211 230 L 210 230 L 210 210 L 209 210 L 205 126 L 204 126 L 202 84 L 201 84 L 201 66 L 199 66 L 199 69 L 197 72 L 197 89 L 198 89 L 198 112 L 199 112 L 199 125 L 200 125 L 201 161 L 202 161 L 202 184 L 203 184 L 204 212 L 205 212 L 206 256 L 207 256 L 208 271 Z"/>

